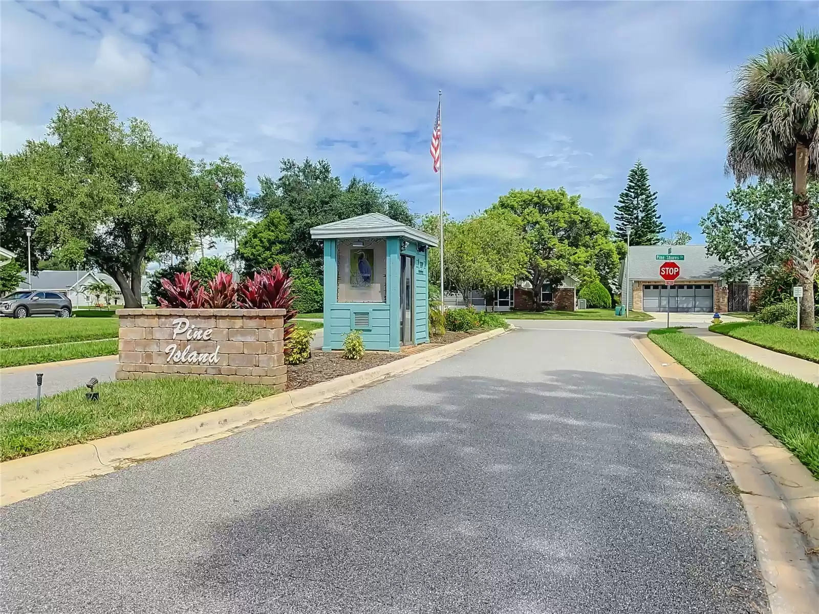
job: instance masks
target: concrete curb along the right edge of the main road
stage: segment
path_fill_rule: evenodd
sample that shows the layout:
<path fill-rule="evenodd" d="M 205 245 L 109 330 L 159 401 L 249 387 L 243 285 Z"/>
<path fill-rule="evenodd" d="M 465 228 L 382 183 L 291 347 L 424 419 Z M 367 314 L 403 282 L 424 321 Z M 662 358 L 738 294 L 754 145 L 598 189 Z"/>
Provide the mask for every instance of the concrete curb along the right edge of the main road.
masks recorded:
<path fill-rule="evenodd" d="M 694 416 L 731 472 L 748 514 L 771 613 L 815 614 L 819 481 L 767 430 L 645 334 L 634 334 L 631 341 Z"/>

